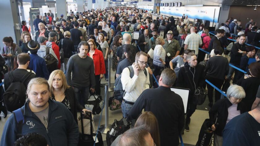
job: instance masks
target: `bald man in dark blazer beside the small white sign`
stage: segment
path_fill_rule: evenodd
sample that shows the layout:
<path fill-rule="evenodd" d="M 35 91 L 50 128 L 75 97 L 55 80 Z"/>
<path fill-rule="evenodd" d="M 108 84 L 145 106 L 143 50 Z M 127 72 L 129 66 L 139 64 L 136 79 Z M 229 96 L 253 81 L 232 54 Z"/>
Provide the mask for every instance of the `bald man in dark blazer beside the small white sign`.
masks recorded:
<path fill-rule="evenodd" d="M 141 51 L 146 53 L 149 51 L 149 40 L 151 37 L 153 37 L 153 35 L 149 33 L 148 29 L 145 29 L 144 34 L 139 36 L 137 45 L 140 47 Z"/>

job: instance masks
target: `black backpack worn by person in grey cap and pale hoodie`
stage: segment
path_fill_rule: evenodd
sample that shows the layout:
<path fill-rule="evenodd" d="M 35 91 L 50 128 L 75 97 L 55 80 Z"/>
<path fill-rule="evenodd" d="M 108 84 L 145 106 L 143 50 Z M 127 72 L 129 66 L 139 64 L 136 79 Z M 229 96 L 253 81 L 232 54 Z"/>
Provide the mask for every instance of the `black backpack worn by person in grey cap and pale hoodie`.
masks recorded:
<path fill-rule="evenodd" d="M 50 49 L 51 49 L 50 47 L 46 48 L 46 56 L 44 56 L 43 58 L 46 62 L 46 66 L 49 73 L 52 73 L 54 70 L 58 69 L 58 65 L 57 65 L 57 59 L 52 54 L 50 54 Z"/>

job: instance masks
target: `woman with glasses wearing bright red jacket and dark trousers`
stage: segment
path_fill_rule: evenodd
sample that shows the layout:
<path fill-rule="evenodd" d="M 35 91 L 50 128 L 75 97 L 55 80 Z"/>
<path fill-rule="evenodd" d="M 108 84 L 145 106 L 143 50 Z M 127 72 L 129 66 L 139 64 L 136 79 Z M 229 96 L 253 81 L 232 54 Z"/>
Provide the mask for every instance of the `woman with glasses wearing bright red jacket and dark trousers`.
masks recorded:
<path fill-rule="evenodd" d="M 90 49 L 88 56 L 91 57 L 94 61 L 94 67 L 95 67 L 95 81 L 96 81 L 96 86 L 95 90 L 96 93 L 100 95 L 100 80 L 104 77 L 103 74 L 106 73 L 106 68 L 105 68 L 105 60 L 103 53 L 99 51 L 92 39 L 88 41 Z"/>

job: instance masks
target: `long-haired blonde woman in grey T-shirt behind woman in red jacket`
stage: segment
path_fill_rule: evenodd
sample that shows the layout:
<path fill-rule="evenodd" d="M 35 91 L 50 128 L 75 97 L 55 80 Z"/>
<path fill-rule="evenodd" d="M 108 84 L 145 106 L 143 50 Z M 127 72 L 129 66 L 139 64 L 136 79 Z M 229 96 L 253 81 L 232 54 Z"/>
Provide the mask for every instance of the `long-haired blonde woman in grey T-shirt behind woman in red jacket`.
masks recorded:
<path fill-rule="evenodd" d="M 107 73 L 108 73 L 108 64 L 107 64 L 107 55 L 108 55 L 108 48 L 109 48 L 109 45 L 107 43 L 107 41 L 105 40 L 105 36 L 104 34 L 99 34 L 98 35 L 98 43 L 102 49 L 102 52 L 103 52 L 103 56 L 104 56 L 104 59 L 105 59 L 105 65 L 106 65 L 106 73 L 105 73 L 105 78 L 106 80 L 108 80 L 107 78 Z"/>

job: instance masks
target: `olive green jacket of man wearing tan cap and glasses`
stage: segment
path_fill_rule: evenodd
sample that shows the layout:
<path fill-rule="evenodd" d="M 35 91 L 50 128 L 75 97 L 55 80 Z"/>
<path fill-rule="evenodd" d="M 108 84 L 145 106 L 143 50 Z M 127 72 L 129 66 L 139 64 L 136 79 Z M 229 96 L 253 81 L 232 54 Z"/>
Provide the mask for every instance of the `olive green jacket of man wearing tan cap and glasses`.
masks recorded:
<path fill-rule="evenodd" d="M 163 45 L 163 48 L 165 49 L 166 56 L 167 53 L 170 53 L 170 58 L 174 57 L 176 55 L 177 51 L 180 51 L 180 44 L 177 40 L 172 39 L 172 41 L 169 43 L 167 38 L 164 39 L 165 44 Z"/>

